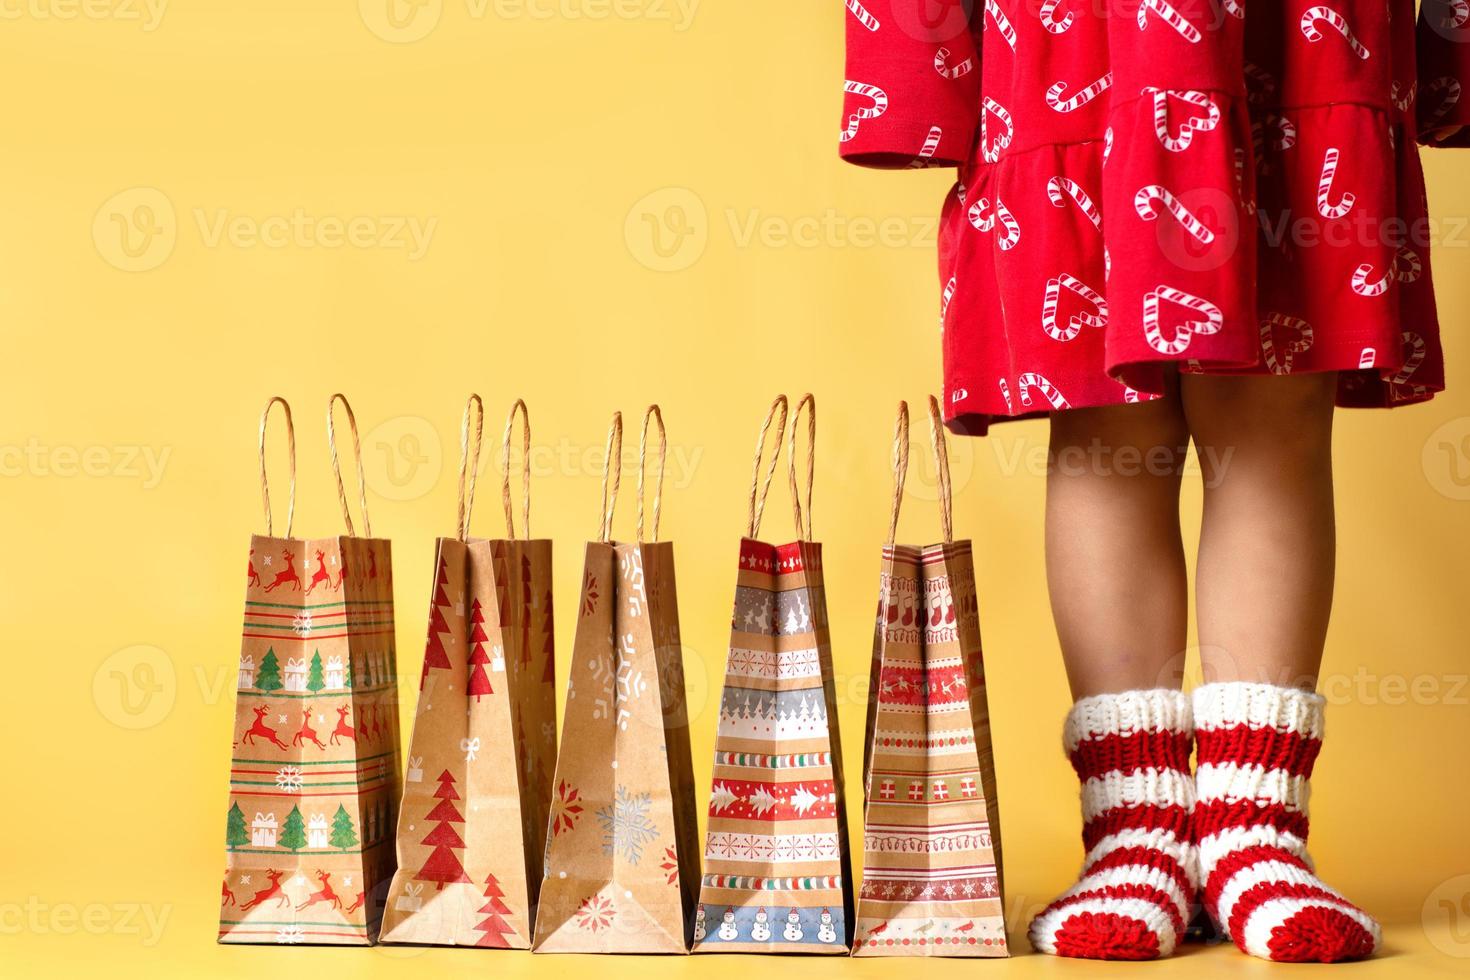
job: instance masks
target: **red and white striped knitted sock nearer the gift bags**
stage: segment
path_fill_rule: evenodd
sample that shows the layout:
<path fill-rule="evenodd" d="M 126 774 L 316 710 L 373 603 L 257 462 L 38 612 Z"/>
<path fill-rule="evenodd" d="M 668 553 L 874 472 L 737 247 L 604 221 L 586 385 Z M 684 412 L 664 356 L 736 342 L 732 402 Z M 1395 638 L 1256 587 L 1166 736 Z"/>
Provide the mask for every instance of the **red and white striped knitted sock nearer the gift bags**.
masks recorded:
<path fill-rule="evenodd" d="M 1078 883 L 1030 924 L 1039 952 L 1085 959 L 1167 956 L 1200 886 L 1189 814 L 1189 698 L 1129 691 L 1083 698 L 1063 742 L 1082 780 Z"/>

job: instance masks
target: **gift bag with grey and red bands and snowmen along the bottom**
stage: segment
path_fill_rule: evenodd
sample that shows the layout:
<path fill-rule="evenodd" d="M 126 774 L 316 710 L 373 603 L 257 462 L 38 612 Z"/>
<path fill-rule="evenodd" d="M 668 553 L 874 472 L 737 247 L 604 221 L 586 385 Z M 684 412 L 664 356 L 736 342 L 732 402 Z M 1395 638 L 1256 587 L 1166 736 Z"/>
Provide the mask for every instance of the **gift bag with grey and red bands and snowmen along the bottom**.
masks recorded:
<path fill-rule="evenodd" d="M 756 444 L 750 527 L 739 547 L 731 649 L 714 739 L 704 880 L 695 952 L 842 954 L 851 942 L 851 867 L 842 795 L 832 648 L 822 545 L 811 541 L 811 455 L 806 517 L 797 492 L 797 423 L 791 425 L 791 495 L 797 541 L 757 539 L 781 454 L 786 398 L 776 398 Z M 776 445 L 759 491 L 766 433 Z"/>

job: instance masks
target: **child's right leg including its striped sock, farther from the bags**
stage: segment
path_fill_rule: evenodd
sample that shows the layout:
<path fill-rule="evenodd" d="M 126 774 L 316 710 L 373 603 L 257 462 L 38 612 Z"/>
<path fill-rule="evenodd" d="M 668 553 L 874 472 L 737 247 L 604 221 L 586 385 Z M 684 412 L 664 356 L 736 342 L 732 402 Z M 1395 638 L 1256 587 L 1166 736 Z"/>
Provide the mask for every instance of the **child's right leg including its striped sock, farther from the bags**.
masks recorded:
<path fill-rule="evenodd" d="M 1333 375 L 1185 378 L 1205 475 L 1194 695 L 1204 904 L 1245 952 L 1323 962 L 1372 954 L 1377 923 L 1307 858 L 1311 693 L 1332 608 Z"/>

